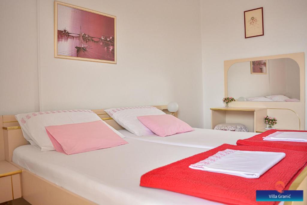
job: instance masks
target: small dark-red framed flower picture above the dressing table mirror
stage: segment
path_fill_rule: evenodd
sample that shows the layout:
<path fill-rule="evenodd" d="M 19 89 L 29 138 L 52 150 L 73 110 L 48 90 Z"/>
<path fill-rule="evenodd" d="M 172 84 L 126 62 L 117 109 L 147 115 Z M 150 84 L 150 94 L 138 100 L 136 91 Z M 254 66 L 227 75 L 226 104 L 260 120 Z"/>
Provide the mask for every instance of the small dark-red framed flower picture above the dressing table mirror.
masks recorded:
<path fill-rule="evenodd" d="M 245 38 L 263 36 L 263 7 L 244 11 Z"/>

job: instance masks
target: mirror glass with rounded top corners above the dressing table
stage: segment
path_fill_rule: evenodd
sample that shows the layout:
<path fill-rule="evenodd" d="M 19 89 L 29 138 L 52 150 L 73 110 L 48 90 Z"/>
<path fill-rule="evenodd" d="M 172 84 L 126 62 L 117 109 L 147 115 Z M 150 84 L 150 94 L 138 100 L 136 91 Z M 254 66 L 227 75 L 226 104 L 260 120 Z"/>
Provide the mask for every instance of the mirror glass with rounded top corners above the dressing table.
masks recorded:
<path fill-rule="evenodd" d="M 300 68 L 291 58 L 235 63 L 227 89 L 237 101 L 299 102 Z"/>

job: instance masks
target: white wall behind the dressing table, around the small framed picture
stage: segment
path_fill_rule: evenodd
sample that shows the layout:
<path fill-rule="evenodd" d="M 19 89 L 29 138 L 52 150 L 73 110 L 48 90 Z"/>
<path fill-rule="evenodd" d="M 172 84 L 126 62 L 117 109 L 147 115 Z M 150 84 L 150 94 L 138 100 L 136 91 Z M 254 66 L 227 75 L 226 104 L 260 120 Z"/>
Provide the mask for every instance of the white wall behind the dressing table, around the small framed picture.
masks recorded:
<path fill-rule="evenodd" d="M 264 36 L 245 39 L 243 12 L 259 7 Z M 201 1 L 205 128 L 210 128 L 210 108 L 223 106 L 225 60 L 307 53 L 306 7 L 306 0 Z"/>

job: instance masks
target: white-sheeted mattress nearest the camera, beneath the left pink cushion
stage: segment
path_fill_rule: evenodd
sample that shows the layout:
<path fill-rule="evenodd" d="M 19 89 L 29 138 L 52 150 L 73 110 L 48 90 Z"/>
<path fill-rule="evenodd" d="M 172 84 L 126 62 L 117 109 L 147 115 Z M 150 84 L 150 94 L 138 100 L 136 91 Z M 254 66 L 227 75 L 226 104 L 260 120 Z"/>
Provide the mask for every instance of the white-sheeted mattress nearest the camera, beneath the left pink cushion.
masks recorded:
<path fill-rule="evenodd" d="M 125 140 L 129 144 L 74 155 L 24 145 L 14 150 L 13 162 L 98 204 L 220 204 L 139 186 L 146 172 L 208 149 Z"/>

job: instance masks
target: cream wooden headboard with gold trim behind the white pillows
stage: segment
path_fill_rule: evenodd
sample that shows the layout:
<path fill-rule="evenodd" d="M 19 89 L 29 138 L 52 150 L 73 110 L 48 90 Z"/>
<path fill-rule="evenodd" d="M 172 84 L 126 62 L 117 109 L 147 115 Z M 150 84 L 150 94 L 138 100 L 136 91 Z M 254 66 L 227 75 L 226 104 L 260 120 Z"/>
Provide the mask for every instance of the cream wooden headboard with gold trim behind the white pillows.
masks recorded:
<path fill-rule="evenodd" d="M 167 105 L 156 105 L 156 107 L 166 114 L 170 114 L 167 110 Z M 124 129 L 115 120 L 110 117 L 104 109 L 92 110 L 107 124 L 111 125 L 116 130 Z M 177 117 L 177 112 L 175 112 Z M 0 116 L 0 126 L 3 132 L 0 132 L 0 160 L 12 161 L 13 151 L 15 148 L 29 144 L 23 137 L 19 123 L 17 122 L 14 115 L 3 115 Z"/>

